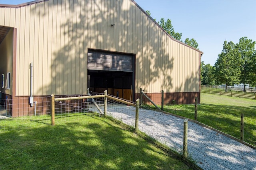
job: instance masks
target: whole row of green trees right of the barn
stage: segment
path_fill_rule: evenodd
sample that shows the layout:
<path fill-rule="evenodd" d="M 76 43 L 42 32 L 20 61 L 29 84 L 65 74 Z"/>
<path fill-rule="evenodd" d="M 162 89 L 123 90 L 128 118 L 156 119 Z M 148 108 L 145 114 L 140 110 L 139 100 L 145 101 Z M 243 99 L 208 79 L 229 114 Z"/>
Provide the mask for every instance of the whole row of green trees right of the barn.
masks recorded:
<path fill-rule="evenodd" d="M 222 52 L 214 66 L 201 62 L 201 84 L 244 84 L 256 86 L 255 41 L 242 37 L 238 43 L 224 41 Z"/>

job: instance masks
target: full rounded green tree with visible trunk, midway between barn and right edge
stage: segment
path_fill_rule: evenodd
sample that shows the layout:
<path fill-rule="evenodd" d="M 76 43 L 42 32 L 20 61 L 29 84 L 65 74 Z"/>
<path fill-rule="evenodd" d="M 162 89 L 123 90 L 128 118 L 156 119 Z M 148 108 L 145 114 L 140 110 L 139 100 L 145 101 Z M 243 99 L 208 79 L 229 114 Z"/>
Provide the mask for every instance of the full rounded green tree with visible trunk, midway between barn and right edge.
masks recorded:
<path fill-rule="evenodd" d="M 228 85 L 240 82 L 240 63 L 241 55 L 238 53 L 236 45 L 232 41 L 229 43 L 224 41 L 223 50 L 214 64 L 214 74 L 216 83 L 226 84 L 226 92 Z"/>

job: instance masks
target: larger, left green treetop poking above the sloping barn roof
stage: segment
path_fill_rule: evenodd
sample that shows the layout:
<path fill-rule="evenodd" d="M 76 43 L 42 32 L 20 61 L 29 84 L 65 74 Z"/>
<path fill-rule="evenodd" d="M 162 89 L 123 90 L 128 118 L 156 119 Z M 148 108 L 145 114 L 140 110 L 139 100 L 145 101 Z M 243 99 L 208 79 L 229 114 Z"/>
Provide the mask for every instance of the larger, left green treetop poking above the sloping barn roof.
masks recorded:
<path fill-rule="evenodd" d="M 174 39 L 181 41 L 182 33 L 175 33 L 174 28 L 172 27 L 172 21 L 170 19 L 164 22 L 164 18 L 161 18 L 158 24 Z"/>

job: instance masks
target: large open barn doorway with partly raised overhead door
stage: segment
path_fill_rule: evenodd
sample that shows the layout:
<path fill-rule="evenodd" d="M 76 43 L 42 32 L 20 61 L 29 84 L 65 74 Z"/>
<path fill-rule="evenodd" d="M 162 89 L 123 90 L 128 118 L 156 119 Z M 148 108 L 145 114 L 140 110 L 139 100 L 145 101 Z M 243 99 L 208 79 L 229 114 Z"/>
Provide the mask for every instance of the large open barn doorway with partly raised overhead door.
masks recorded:
<path fill-rule="evenodd" d="M 90 91 L 134 100 L 134 56 L 126 53 L 88 50 Z"/>

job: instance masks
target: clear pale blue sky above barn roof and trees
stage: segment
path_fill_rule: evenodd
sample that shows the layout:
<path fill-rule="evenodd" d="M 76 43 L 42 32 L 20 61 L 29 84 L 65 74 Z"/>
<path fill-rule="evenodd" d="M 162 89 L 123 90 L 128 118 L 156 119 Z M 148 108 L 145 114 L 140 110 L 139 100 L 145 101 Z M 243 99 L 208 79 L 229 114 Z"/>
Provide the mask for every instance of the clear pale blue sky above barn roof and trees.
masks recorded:
<path fill-rule="evenodd" d="M 0 0 L 21 4 L 31 0 Z M 241 37 L 256 41 L 256 0 L 135 0 L 151 17 L 172 21 L 182 41 L 194 38 L 204 52 L 201 61 L 215 64 L 224 41 L 238 43 Z"/>

